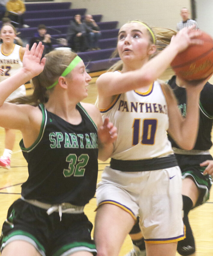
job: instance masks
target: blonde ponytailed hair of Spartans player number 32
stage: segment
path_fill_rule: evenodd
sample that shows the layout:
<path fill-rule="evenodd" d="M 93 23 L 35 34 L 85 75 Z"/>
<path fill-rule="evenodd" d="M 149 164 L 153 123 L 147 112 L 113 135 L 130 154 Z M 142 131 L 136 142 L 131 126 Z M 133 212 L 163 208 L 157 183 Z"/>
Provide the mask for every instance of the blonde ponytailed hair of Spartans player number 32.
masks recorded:
<path fill-rule="evenodd" d="M 70 62 L 77 56 L 75 52 L 70 50 L 54 50 L 47 53 L 44 70 L 32 78 L 34 91 L 32 95 L 16 98 L 12 103 L 29 104 L 38 106 L 40 103 L 46 103 L 49 94 L 54 90 L 46 88 L 52 85 L 61 76 L 63 71 L 68 67 Z M 71 73 L 70 73 L 71 74 Z"/>

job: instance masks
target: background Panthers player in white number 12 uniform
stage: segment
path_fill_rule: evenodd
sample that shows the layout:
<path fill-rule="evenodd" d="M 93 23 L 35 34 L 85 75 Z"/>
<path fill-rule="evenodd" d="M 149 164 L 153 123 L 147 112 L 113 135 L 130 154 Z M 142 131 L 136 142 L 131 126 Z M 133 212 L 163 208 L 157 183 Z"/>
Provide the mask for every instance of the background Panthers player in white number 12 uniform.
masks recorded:
<path fill-rule="evenodd" d="M 3 43 L 0 45 L 0 81 L 3 81 L 15 74 L 22 68 L 22 58 L 25 48 L 14 44 L 16 37 L 16 29 L 11 24 L 5 24 L 1 29 L 1 39 Z M 22 85 L 17 90 L 11 93 L 6 101 L 11 101 L 14 98 L 26 95 L 25 86 Z M 14 148 L 15 133 L 11 129 L 5 129 L 5 150 L 0 158 L 0 166 L 10 168 L 10 158 Z"/>

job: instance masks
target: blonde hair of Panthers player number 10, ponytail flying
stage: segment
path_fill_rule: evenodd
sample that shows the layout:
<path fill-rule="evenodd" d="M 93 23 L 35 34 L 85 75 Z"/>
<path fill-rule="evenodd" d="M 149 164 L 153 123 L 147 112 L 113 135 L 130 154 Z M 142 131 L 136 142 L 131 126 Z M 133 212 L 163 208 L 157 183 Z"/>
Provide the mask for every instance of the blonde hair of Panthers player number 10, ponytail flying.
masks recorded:
<path fill-rule="evenodd" d="M 142 22 L 140 20 L 133 20 L 129 22 L 138 22 L 141 23 L 142 25 L 145 25 L 149 35 L 150 35 L 150 43 L 154 43 L 154 38 L 155 38 L 155 45 L 157 47 L 157 50 L 154 54 L 150 56 L 150 58 L 153 58 L 156 56 L 160 51 L 162 51 L 167 45 L 169 45 L 172 36 L 177 34 L 177 31 L 171 30 L 168 28 L 159 28 L 159 27 L 149 27 L 147 23 Z M 129 23 L 127 22 L 127 23 Z M 148 28 L 147 28 L 148 27 Z M 151 33 L 152 32 L 152 33 Z M 111 55 L 111 58 L 118 57 L 118 51 L 117 48 L 114 50 L 114 52 Z M 113 72 L 116 70 L 122 70 L 123 68 L 123 61 L 119 60 L 115 64 L 113 64 L 107 71 Z"/>

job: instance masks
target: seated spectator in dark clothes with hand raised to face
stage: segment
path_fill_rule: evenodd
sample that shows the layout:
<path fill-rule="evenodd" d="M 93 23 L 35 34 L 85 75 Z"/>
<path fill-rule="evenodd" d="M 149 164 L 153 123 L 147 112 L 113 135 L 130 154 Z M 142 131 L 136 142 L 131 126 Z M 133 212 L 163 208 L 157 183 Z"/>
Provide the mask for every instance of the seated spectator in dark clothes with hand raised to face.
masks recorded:
<path fill-rule="evenodd" d="M 75 20 L 70 21 L 67 32 L 68 46 L 75 52 L 85 52 L 88 50 L 87 33 L 92 30 L 81 22 L 81 15 L 76 14 Z"/>

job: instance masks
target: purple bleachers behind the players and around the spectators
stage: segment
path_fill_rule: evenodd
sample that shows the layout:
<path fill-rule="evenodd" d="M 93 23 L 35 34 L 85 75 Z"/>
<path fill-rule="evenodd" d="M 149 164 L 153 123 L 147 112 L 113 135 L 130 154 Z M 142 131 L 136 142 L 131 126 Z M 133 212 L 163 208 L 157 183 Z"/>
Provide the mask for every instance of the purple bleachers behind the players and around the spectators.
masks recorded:
<path fill-rule="evenodd" d="M 57 39 L 66 38 L 70 20 L 73 20 L 76 14 L 81 14 L 83 20 L 86 13 L 86 8 L 71 9 L 71 2 L 26 3 L 24 20 L 30 27 L 19 28 L 18 32 L 21 32 L 20 37 L 25 42 L 30 42 L 30 39 L 38 32 L 38 25 L 45 24 L 47 33 L 51 35 L 53 47 L 62 47 Z M 94 14 L 93 18 L 102 33 L 99 39 L 101 50 L 78 53 L 89 72 L 106 70 L 120 59 L 119 57 L 111 58 L 117 45 L 118 21 L 102 22 L 102 14 Z"/>

